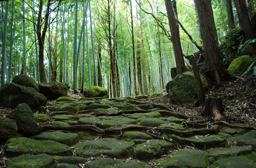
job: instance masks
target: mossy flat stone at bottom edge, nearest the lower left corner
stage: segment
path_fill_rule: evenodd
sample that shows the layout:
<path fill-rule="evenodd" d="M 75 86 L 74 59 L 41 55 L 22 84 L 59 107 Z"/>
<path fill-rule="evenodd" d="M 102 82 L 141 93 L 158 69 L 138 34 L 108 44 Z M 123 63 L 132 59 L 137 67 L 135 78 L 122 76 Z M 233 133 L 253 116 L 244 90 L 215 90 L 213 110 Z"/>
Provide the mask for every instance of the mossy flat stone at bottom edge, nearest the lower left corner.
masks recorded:
<path fill-rule="evenodd" d="M 36 167 L 51 168 L 55 164 L 55 159 L 47 154 L 21 155 L 6 162 L 7 167 Z"/>

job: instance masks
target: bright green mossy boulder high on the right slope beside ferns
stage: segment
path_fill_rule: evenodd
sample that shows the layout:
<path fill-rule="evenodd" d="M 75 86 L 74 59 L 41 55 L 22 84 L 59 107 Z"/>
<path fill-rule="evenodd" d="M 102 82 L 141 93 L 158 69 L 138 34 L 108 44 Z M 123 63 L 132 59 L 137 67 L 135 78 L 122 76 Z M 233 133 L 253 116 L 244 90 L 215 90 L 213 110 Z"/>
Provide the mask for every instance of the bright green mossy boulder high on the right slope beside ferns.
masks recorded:
<path fill-rule="evenodd" d="M 249 55 L 243 55 L 237 59 L 234 59 L 227 70 L 231 73 L 242 75 L 246 72 L 252 62 L 253 61 Z"/>

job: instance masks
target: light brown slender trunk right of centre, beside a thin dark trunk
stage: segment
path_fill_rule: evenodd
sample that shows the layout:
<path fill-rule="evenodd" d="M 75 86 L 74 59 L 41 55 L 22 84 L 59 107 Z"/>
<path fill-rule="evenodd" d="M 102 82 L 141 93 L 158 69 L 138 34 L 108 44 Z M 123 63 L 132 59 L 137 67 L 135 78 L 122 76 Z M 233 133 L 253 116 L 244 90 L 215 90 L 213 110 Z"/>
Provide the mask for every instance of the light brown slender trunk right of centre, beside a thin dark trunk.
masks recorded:
<path fill-rule="evenodd" d="M 140 5 L 140 1 L 139 1 Z M 142 69 L 143 69 L 143 80 L 144 80 L 144 89 L 145 94 L 150 94 L 147 86 L 147 77 L 146 77 L 146 61 L 145 61 L 145 48 L 144 48 L 144 35 L 143 35 L 143 23 L 142 23 L 142 12 L 140 8 L 140 33 L 141 33 L 141 52 L 142 52 Z"/>

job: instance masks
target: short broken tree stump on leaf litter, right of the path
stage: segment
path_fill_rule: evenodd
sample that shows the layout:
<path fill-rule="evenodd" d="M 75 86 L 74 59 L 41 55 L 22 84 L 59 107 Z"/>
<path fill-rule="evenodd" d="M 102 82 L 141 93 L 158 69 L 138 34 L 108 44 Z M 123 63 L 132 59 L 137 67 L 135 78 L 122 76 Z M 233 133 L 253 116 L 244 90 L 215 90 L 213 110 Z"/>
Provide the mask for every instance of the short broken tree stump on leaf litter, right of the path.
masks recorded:
<path fill-rule="evenodd" d="M 202 113 L 204 117 L 213 117 L 214 120 L 223 120 L 224 108 L 222 107 L 222 99 L 220 97 L 206 97 L 205 107 Z"/>

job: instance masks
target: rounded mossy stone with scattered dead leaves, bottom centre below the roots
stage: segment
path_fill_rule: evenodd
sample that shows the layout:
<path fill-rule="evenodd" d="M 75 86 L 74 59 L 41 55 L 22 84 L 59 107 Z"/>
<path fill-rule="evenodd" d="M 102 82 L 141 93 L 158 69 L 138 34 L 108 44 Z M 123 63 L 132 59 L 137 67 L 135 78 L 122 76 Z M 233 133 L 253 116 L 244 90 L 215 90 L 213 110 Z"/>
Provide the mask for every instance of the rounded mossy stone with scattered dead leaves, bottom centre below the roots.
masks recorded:
<path fill-rule="evenodd" d="M 138 145 L 133 151 L 133 156 L 139 160 L 148 161 L 164 155 L 172 148 L 174 148 L 174 144 L 172 143 L 168 143 L 164 140 L 152 139 Z"/>

